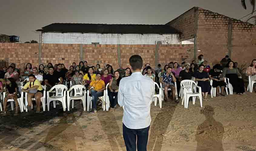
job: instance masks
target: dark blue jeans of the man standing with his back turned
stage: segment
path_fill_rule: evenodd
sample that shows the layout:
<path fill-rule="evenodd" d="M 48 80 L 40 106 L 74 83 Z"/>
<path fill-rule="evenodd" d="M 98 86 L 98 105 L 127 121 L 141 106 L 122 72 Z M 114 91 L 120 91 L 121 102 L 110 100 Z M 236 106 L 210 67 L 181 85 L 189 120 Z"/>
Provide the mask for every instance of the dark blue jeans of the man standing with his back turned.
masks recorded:
<path fill-rule="evenodd" d="M 149 127 L 142 129 L 129 129 L 123 124 L 123 136 L 127 151 L 136 151 L 136 136 L 138 151 L 147 151 Z"/>

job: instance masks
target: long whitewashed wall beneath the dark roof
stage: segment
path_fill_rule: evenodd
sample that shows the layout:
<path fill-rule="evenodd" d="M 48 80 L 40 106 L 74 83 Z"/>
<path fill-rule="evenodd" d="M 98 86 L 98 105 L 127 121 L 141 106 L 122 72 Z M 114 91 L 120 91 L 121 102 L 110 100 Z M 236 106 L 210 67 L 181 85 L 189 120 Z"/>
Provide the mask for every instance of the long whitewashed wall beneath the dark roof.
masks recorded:
<path fill-rule="evenodd" d="M 181 44 L 177 34 L 81 34 L 81 33 L 43 33 L 42 43 L 65 44 Z"/>

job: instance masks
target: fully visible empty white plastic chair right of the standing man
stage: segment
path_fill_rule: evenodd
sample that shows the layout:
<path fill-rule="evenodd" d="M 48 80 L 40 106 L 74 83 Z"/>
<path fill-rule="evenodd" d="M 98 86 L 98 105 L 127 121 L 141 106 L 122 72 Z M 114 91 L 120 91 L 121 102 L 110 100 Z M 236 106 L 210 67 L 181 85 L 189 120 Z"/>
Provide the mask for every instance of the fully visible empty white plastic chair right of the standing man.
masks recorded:
<path fill-rule="evenodd" d="M 199 89 L 199 92 L 193 92 L 193 88 L 194 86 L 197 87 Z M 192 80 L 182 80 L 181 81 L 181 86 L 184 89 L 184 97 L 182 99 L 182 105 L 184 103 L 184 107 L 188 108 L 188 100 L 190 97 L 193 97 L 193 104 L 195 104 L 195 98 L 194 97 L 199 97 L 200 100 L 200 105 L 201 108 L 203 107 L 202 105 L 202 91 L 201 91 L 201 87 L 198 86 L 196 84 L 196 82 L 192 81 Z"/>

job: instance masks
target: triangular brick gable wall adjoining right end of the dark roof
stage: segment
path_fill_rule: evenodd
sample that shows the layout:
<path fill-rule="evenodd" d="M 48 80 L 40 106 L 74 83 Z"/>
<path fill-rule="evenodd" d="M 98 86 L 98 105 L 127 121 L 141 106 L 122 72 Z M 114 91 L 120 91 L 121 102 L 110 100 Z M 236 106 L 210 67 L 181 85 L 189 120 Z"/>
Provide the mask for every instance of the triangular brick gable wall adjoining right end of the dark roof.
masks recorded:
<path fill-rule="evenodd" d="M 175 27 L 182 35 L 180 40 L 193 39 L 195 35 L 195 7 L 181 14 L 179 17 L 168 22 L 167 24 L 171 27 Z"/>

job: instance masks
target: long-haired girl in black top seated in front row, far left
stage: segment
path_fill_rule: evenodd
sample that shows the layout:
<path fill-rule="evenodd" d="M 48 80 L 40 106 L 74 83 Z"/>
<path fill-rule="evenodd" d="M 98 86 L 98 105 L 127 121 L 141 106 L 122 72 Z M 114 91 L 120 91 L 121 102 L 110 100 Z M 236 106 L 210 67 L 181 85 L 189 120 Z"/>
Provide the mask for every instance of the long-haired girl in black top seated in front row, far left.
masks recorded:
<path fill-rule="evenodd" d="M 13 67 L 12 67 L 12 69 L 13 69 Z M 13 99 L 14 102 L 15 102 L 15 113 L 14 113 L 14 115 L 18 115 L 18 106 L 19 106 L 19 104 L 18 104 L 17 99 L 18 99 L 18 97 L 20 97 L 20 95 L 19 95 L 18 85 L 16 83 L 16 80 L 14 78 L 8 78 L 8 79 L 6 79 L 5 83 L 6 83 L 6 97 L 4 99 L 3 112 L 1 114 L 6 115 L 7 101 L 8 101 L 8 99 Z"/>

